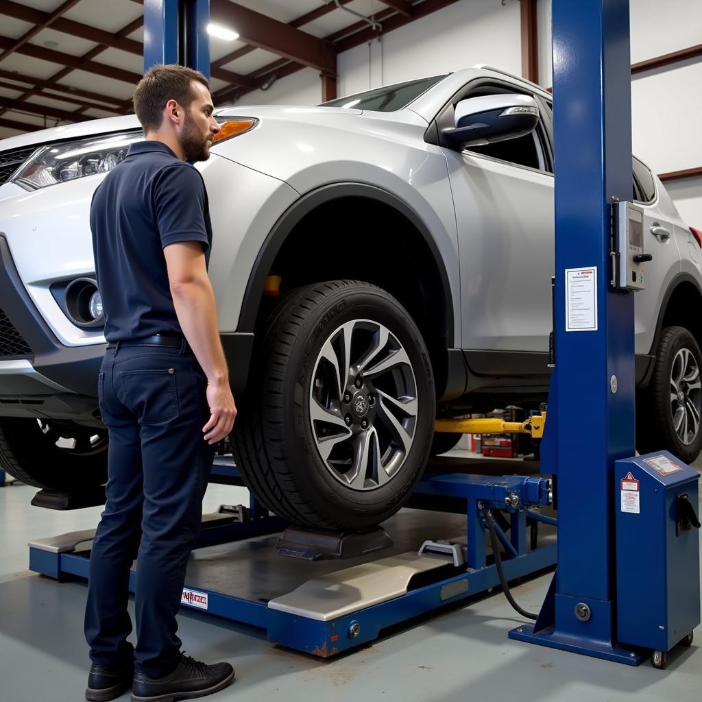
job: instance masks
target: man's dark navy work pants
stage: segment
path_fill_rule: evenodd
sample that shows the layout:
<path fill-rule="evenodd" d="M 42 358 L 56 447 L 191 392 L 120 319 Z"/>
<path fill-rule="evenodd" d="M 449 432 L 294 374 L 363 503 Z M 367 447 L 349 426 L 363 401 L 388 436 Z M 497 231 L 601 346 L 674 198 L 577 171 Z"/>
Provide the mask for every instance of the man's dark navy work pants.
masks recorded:
<path fill-rule="evenodd" d="M 180 651 L 176 611 L 215 452 L 202 432 L 206 377 L 185 343 L 119 345 L 106 352 L 98 388 L 110 430 L 109 479 L 90 558 L 86 640 L 93 663 L 114 667 L 131 657 L 136 558 L 135 666 L 161 677 Z"/>

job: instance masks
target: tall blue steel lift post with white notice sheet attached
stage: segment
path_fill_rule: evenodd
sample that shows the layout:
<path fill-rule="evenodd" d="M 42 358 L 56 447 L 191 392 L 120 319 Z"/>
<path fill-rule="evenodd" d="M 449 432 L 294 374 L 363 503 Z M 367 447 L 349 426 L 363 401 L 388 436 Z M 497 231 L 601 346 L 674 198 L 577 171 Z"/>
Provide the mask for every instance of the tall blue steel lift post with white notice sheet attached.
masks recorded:
<path fill-rule="evenodd" d="M 558 567 L 510 637 L 637 664 L 614 602 L 614 462 L 635 451 L 634 299 L 610 283 L 611 203 L 633 198 L 628 0 L 553 0 L 552 37 Z M 595 270 L 592 331 L 567 331 L 568 269 Z"/>

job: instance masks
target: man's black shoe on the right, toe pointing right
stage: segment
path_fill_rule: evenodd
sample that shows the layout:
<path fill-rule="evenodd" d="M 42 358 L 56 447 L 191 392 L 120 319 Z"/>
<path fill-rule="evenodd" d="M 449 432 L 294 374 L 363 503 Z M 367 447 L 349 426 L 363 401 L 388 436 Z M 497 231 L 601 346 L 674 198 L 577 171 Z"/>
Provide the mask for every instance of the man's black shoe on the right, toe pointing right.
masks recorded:
<path fill-rule="evenodd" d="M 234 668 L 229 663 L 205 665 L 180 654 L 176 670 L 164 677 L 135 673 L 132 702 L 174 702 L 204 697 L 227 687 L 232 680 Z"/>

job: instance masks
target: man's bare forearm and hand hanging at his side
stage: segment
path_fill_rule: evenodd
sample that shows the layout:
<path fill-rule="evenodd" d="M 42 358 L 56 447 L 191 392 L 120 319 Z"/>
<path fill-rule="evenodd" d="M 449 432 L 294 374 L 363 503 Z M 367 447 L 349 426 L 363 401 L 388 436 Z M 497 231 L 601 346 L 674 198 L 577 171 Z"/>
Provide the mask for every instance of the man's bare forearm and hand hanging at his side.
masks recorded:
<path fill-rule="evenodd" d="M 180 328 L 207 376 L 211 416 L 202 429 L 210 444 L 227 436 L 237 408 L 217 323 L 217 307 L 200 241 L 179 241 L 164 248 L 168 283 Z"/>

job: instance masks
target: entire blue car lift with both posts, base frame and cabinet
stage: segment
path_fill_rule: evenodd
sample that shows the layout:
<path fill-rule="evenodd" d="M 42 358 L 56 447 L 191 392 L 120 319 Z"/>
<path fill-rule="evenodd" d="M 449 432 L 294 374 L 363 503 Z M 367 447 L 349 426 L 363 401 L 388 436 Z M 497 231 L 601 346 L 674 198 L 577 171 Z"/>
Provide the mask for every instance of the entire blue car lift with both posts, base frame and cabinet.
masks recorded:
<path fill-rule="evenodd" d="M 145 0 L 144 17 L 145 69 L 180 63 L 209 75 L 209 0 Z M 556 479 L 557 571 L 536 623 L 510 637 L 630 665 L 655 651 L 654 665 L 664 667 L 665 653 L 689 643 L 700 621 L 698 538 L 691 528 L 698 475 L 664 452 L 634 457 L 634 293 L 614 274 L 617 256 L 627 252 L 616 253 L 613 226 L 615 204 L 633 197 L 629 3 L 553 0 L 552 27 L 557 356 L 541 470 Z M 222 461 L 215 472 L 237 477 Z M 446 579 L 363 609 L 300 605 L 329 596 L 325 586 L 333 589 L 343 574 L 355 577 L 353 568 L 319 578 L 317 590 L 303 587 L 302 595 L 296 590 L 270 601 L 201 583 L 188 597 L 184 592 L 183 604 L 266 628 L 272 642 L 333 655 L 372 640 L 385 626 L 496 586 L 496 567 L 486 559 L 486 510 L 506 504 L 510 512 L 509 535 L 494 525 L 508 580 L 552 565 L 556 547 L 529 550 L 526 536 L 527 517 L 555 523 L 526 509 L 548 504 L 550 487 L 543 478 L 423 479 L 420 494 L 466 498 L 463 555 L 449 545 L 455 570 Z M 633 488 L 636 494 L 623 494 Z M 252 502 L 248 519 L 213 522 L 199 546 L 282 526 Z M 77 543 L 89 538 L 86 532 L 30 544 L 30 567 L 55 578 L 86 577 L 87 558 Z M 650 583 L 648 590 L 642 583 Z"/>

